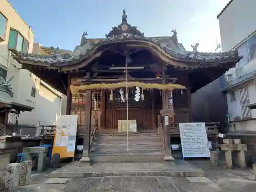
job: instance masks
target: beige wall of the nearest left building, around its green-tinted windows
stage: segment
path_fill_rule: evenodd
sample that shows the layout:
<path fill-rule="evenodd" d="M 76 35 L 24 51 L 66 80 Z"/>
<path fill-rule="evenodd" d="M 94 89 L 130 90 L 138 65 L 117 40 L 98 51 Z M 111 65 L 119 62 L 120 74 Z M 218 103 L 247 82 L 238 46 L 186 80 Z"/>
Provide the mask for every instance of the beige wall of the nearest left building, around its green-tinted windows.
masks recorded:
<path fill-rule="evenodd" d="M 7 19 L 4 41 L 0 42 L 0 67 L 7 70 L 7 80 L 14 76 L 10 81 L 14 100 L 34 107 L 35 98 L 31 96 L 31 89 L 35 86 L 36 77 L 29 71 L 22 70 L 22 66 L 13 59 L 14 53 L 8 49 L 11 29 L 18 31 L 28 41 L 28 53 L 33 50 L 34 34 L 8 1 L 1 0 L 0 12 Z"/>

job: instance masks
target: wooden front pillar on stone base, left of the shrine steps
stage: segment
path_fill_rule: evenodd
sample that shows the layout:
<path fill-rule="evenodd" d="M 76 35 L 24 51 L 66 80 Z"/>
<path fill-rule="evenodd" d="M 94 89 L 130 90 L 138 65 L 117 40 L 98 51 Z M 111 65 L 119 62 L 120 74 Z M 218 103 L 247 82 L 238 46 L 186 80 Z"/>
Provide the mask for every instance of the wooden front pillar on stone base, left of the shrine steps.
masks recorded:
<path fill-rule="evenodd" d="M 92 90 L 86 90 L 86 110 L 84 112 L 84 131 L 83 131 L 83 152 L 80 162 L 90 161 L 90 134 L 92 116 Z"/>

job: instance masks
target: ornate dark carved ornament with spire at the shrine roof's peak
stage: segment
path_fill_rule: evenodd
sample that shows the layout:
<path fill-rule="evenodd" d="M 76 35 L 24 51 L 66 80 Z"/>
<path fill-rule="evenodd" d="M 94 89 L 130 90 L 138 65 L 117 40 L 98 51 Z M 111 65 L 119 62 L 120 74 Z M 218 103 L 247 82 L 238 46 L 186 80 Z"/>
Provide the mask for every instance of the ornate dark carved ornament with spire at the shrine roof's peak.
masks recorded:
<path fill-rule="evenodd" d="M 122 23 L 118 27 L 112 27 L 112 30 L 105 34 L 106 37 L 112 37 L 123 33 L 129 33 L 131 35 L 144 36 L 144 33 L 140 32 L 137 27 L 127 23 L 127 15 L 125 9 L 123 9 Z"/>

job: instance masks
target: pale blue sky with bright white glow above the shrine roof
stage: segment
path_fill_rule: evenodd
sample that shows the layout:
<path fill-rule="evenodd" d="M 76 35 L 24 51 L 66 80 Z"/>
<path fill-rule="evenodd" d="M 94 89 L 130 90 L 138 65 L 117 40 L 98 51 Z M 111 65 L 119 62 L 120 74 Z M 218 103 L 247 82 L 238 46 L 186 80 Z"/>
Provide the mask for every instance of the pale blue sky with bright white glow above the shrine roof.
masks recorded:
<path fill-rule="evenodd" d="M 127 22 L 145 36 L 172 36 L 186 50 L 199 43 L 198 51 L 215 52 L 221 42 L 217 15 L 229 0 L 9 0 L 42 46 L 74 50 L 81 35 L 104 38 L 121 23 L 125 8 Z"/>

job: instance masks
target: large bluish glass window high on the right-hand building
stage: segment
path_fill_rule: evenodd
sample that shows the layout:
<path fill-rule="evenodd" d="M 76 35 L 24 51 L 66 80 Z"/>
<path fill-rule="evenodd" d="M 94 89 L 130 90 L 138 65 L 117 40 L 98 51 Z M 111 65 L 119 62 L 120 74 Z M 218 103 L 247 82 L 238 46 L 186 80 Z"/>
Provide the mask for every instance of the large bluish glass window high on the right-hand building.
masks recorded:
<path fill-rule="evenodd" d="M 245 66 L 249 61 L 256 58 L 256 32 L 237 48 L 239 55 L 244 57 L 239 61 L 239 67 Z"/>

